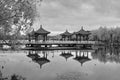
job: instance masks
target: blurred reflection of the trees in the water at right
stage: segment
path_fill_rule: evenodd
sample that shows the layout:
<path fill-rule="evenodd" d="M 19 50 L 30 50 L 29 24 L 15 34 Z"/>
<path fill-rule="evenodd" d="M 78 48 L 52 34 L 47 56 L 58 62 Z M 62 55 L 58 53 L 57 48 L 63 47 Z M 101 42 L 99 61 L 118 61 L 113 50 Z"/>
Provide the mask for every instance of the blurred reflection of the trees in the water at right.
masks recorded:
<path fill-rule="evenodd" d="M 93 59 L 98 59 L 100 62 L 116 62 L 120 63 L 120 48 L 118 47 L 102 47 L 92 53 Z"/>

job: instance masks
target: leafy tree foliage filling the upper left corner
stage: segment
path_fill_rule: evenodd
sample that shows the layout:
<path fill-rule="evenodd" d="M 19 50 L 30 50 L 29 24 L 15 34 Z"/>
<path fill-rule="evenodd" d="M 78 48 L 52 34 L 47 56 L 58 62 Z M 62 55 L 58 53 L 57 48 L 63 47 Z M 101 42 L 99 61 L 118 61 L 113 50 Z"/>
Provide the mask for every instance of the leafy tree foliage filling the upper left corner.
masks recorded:
<path fill-rule="evenodd" d="M 18 36 L 31 28 L 42 0 L 0 0 L 0 38 Z"/>

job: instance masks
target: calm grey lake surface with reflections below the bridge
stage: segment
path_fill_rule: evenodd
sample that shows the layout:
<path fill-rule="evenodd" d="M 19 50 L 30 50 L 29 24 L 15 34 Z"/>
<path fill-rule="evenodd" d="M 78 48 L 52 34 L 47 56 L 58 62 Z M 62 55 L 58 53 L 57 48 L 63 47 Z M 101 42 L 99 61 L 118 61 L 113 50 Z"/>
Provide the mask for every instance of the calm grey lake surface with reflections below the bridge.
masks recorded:
<path fill-rule="evenodd" d="M 27 80 L 120 80 L 119 63 L 115 49 L 0 51 L 2 75 Z"/>

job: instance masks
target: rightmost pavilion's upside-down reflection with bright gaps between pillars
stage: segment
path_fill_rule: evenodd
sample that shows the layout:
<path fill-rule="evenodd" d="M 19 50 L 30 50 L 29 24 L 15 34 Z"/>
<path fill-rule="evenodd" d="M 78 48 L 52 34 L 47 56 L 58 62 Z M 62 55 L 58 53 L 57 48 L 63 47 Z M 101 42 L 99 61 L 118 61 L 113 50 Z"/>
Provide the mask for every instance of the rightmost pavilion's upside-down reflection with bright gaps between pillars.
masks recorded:
<path fill-rule="evenodd" d="M 90 61 L 91 59 L 88 56 L 88 51 L 76 51 L 74 60 L 81 63 L 81 66 L 83 63 Z"/>

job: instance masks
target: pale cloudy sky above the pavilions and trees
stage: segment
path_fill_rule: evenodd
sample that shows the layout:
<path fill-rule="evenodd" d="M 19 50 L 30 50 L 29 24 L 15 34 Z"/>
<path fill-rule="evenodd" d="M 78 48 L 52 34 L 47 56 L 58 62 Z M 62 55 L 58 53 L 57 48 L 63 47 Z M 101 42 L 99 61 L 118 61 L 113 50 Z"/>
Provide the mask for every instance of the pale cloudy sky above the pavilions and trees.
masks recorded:
<path fill-rule="evenodd" d="M 120 26 L 120 0 L 43 0 L 39 9 L 40 23 L 34 27 L 54 33 Z"/>

